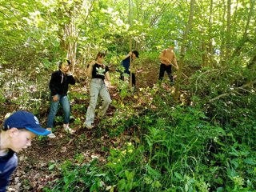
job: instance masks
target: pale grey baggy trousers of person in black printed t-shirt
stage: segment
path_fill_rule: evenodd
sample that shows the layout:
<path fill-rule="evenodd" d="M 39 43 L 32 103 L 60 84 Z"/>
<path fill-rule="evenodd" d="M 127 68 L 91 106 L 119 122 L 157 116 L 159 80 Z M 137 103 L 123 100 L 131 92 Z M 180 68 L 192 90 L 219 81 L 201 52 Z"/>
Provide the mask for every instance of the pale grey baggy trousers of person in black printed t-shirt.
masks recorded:
<path fill-rule="evenodd" d="M 102 106 L 99 107 L 98 116 L 104 116 L 109 108 L 111 101 L 110 93 L 106 88 L 104 80 L 101 78 L 92 78 L 90 82 L 90 104 L 86 112 L 86 126 L 94 123 L 95 108 L 98 100 L 98 94 L 102 98 Z"/>

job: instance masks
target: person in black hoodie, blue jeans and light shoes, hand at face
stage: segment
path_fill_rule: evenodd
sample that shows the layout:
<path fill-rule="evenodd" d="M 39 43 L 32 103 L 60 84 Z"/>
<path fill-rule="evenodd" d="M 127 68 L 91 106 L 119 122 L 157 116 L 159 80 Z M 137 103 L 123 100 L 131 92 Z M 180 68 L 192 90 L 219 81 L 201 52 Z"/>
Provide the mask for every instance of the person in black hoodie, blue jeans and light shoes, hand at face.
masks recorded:
<path fill-rule="evenodd" d="M 58 104 L 61 103 L 64 112 L 64 122 L 63 128 L 66 132 L 74 134 L 69 126 L 70 122 L 70 100 L 67 97 L 67 91 L 69 89 L 69 84 L 74 85 L 75 80 L 73 75 L 70 73 L 70 61 L 63 59 L 59 63 L 58 69 L 54 71 L 50 78 L 50 112 L 48 114 L 46 127 L 47 130 L 52 131 L 54 126 L 54 118 L 58 111 Z M 55 134 L 51 132 L 48 134 L 49 138 L 55 138 Z"/>

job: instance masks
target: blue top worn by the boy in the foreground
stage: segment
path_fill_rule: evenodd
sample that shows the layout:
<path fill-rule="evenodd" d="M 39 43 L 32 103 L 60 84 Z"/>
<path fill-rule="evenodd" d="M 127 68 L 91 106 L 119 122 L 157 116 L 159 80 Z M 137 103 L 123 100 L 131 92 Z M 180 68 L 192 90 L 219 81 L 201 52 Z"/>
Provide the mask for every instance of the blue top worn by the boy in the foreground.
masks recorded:
<path fill-rule="evenodd" d="M 10 181 L 10 175 L 18 165 L 18 158 L 13 150 L 9 150 L 5 156 L 0 156 L 0 192 L 6 192 L 6 186 Z"/>

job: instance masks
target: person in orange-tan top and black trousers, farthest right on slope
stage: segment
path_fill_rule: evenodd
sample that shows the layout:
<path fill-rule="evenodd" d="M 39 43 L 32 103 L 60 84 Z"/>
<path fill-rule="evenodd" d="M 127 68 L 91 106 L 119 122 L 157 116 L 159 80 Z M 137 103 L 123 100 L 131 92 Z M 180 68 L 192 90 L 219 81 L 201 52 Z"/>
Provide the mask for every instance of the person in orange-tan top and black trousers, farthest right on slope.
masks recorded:
<path fill-rule="evenodd" d="M 174 53 L 174 46 L 170 46 L 169 49 L 162 50 L 162 53 L 159 55 L 160 58 L 160 72 L 159 72 L 159 82 L 162 82 L 162 79 L 164 77 L 165 71 L 168 74 L 168 77 L 170 78 L 170 84 L 174 84 L 174 79 L 172 75 L 172 66 L 176 70 L 178 70 L 178 64 L 176 55 Z"/>

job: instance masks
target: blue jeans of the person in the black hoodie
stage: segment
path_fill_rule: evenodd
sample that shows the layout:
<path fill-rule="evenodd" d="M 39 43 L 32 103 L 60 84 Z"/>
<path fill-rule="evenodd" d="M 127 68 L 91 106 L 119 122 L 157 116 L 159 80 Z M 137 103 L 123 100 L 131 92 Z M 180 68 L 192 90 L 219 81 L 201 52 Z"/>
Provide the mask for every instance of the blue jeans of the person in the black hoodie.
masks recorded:
<path fill-rule="evenodd" d="M 46 127 L 52 128 L 54 126 L 54 118 L 58 111 L 58 104 L 61 103 L 64 112 L 64 124 L 70 122 L 70 100 L 66 95 L 58 95 L 58 101 L 54 102 L 53 97 L 50 96 L 50 113 L 48 114 Z"/>

